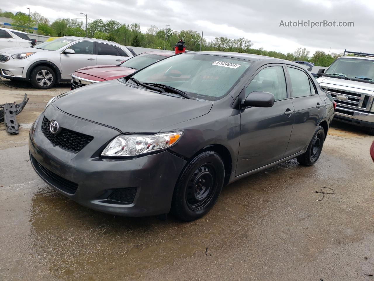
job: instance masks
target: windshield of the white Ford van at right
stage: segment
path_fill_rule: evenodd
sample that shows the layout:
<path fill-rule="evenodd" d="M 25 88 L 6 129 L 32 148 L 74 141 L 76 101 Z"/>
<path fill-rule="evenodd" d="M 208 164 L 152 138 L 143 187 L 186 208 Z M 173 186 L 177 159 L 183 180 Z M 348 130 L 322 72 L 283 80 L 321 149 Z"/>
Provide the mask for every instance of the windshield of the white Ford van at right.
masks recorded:
<path fill-rule="evenodd" d="M 324 76 L 373 83 L 374 60 L 337 58 L 325 71 Z"/>

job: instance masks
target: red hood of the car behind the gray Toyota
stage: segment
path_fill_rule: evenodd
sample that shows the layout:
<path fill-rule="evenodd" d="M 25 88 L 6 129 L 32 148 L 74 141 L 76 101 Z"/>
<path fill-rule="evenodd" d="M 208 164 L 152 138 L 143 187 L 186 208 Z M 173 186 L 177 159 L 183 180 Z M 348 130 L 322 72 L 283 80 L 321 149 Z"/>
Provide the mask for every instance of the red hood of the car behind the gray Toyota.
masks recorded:
<path fill-rule="evenodd" d="M 85 73 L 105 80 L 119 79 L 135 71 L 135 69 L 117 65 L 89 66 L 76 70 L 76 72 Z"/>

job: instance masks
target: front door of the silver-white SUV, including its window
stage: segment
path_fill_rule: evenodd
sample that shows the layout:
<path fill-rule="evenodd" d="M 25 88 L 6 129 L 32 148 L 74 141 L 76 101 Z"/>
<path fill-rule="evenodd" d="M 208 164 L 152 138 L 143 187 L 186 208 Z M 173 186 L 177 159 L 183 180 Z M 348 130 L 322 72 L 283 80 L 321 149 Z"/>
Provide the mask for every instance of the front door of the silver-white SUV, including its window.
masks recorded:
<path fill-rule="evenodd" d="M 96 55 L 93 54 L 93 42 L 80 41 L 68 47 L 75 54 L 61 53 L 61 76 L 62 79 L 71 79 L 71 74 L 77 69 L 96 65 Z"/>

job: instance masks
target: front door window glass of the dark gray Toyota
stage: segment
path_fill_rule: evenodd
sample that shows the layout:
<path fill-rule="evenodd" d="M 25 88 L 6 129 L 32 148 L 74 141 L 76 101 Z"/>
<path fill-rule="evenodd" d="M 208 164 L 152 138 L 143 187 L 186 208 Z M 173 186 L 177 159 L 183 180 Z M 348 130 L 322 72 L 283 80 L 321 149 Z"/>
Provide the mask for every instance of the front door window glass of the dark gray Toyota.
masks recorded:
<path fill-rule="evenodd" d="M 286 79 L 282 66 L 269 66 L 257 73 L 246 88 L 246 93 L 269 92 L 275 100 L 287 98 Z"/>

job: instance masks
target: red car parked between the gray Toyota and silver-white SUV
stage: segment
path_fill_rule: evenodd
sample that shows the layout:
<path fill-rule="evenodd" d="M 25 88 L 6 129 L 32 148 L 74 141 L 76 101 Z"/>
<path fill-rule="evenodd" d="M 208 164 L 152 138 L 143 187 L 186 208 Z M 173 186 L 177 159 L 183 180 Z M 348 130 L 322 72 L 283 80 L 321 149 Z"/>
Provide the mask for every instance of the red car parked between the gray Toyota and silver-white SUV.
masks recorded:
<path fill-rule="evenodd" d="M 70 90 L 96 82 L 119 79 L 156 61 L 174 55 L 172 52 L 145 52 L 131 57 L 121 64 L 88 66 L 76 70 L 71 75 Z"/>

